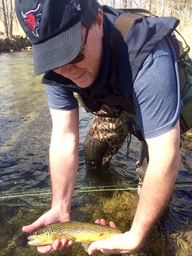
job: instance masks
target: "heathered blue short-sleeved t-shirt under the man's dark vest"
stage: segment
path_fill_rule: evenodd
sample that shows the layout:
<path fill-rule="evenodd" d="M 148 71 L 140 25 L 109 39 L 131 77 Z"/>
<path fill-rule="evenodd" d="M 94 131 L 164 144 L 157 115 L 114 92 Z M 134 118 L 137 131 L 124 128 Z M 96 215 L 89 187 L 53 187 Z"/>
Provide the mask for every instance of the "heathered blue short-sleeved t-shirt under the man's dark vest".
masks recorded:
<path fill-rule="evenodd" d="M 153 138 L 174 127 L 182 101 L 176 56 L 168 39 L 162 40 L 145 60 L 132 94 L 144 138 Z M 73 93 L 62 86 L 46 85 L 46 97 L 50 109 L 72 110 L 78 106 Z"/>

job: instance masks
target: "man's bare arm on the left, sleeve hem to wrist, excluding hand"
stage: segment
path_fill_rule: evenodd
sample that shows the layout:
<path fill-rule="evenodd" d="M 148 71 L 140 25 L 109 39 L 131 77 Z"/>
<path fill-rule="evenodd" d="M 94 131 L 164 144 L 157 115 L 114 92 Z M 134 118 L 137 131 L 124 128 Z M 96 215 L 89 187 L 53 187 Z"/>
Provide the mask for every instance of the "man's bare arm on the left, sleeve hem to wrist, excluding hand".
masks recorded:
<path fill-rule="evenodd" d="M 78 170 L 78 108 L 51 110 L 53 130 L 50 144 L 52 208 L 63 216 L 70 214 L 72 194 Z M 70 220 L 70 216 L 67 217 Z M 66 217 L 65 217 L 66 219 Z"/>

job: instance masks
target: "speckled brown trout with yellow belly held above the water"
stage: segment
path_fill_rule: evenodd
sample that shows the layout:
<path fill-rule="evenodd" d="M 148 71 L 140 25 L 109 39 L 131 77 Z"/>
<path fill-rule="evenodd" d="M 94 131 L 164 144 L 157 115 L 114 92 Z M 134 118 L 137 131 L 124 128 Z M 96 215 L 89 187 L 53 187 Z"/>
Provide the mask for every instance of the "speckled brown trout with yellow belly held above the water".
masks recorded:
<path fill-rule="evenodd" d="M 96 223 L 88 222 L 59 222 L 54 223 L 45 228 L 40 228 L 36 232 L 28 236 L 28 244 L 30 245 L 48 245 L 52 244 L 56 239 L 73 240 L 79 242 L 83 248 L 88 251 L 91 242 L 101 240 L 122 234 L 119 228 L 111 228 Z"/>

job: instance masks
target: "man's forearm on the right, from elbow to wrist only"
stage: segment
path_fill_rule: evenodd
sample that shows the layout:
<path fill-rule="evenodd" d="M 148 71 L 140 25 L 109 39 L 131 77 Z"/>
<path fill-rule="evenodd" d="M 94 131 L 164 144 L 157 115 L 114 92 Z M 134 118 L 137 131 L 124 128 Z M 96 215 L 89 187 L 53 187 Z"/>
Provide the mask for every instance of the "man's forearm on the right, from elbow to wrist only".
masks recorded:
<path fill-rule="evenodd" d="M 167 166 L 162 162 L 163 160 L 149 163 L 132 224 L 131 231 L 141 244 L 170 200 L 179 170 L 180 156 Z"/>

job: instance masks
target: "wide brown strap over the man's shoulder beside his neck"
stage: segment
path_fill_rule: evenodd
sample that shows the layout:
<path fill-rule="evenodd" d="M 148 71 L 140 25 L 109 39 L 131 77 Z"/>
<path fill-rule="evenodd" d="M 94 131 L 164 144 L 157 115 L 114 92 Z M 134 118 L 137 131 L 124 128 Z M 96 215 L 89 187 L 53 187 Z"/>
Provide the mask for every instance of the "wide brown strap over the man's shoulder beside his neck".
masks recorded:
<path fill-rule="evenodd" d="M 140 14 L 140 13 L 134 13 L 134 12 L 126 12 L 124 14 L 121 14 L 116 22 L 114 23 L 114 26 L 112 27 L 112 30 L 110 32 L 110 44 L 114 52 L 117 52 L 119 49 L 124 37 L 130 30 L 130 27 L 133 23 L 133 21 L 136 18 L 144 17 L 146 15 Z M 126 26 L 125 26 L 126 24 Z"/>

